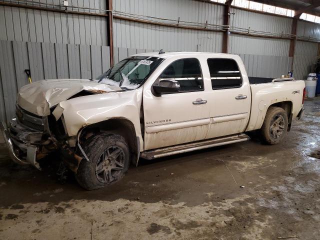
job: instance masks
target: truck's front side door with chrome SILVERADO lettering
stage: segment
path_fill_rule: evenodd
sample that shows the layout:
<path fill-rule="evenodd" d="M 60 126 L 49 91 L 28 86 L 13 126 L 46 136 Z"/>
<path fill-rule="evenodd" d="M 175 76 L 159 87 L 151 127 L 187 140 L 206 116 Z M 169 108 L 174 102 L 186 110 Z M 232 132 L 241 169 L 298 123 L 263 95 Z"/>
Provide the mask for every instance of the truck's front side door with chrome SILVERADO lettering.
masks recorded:
<path fill-rule="evenodd" d="M 208 131 L 208 92 L 199 59 L 169 63 L 153 84 L 164 79 L 177 81 L 180 89 L 160 96 L 143 89 L 144 150 L 202 140 Z"/>

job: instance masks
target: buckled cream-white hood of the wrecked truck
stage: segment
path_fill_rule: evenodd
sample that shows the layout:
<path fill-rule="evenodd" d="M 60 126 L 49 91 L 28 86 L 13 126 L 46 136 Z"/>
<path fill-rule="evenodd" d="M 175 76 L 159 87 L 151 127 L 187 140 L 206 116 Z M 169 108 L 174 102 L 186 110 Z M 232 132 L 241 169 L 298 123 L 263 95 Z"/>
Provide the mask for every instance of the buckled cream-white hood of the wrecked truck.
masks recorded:
<path fill-rule="evenodd" d="M 17 104 L 31 113 L 45 116 L 50 114 L 52 106 L 82 90 L 97 94 L 122 89 L 89 79 L 41 80 L 22 86 L 18 92 Z"/>

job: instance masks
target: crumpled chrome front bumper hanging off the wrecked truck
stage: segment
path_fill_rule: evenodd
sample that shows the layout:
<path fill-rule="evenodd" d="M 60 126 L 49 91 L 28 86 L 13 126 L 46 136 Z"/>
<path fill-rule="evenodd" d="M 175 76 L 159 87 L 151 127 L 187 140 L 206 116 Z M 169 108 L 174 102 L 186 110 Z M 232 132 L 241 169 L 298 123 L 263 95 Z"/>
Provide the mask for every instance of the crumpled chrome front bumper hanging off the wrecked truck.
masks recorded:
<path fill-rule="evenodd" d="M 3 122 L 1 122 L 0 128 L 3 138 L 6 142 L 7 148 L 9 150 L 9 155 L 11 159 L 15 163 L 22 165 L 31 164 L 36 168 L 40 169 L 39 163 L 36 161 L 36 153 L 38 150 L 38 146 L 22 141 L 22 138 L 19 136 L 19 134 L 15 136 L 11 134 L 10 128 L 7 128 L 6 124 L 4 124 Z M 14 125 L 11 124 L 11 128 L 13 128 L 15 132 L 17 131 L 17 129 L 21 130 L 20 126 L 15 124 L 15 122 Z M 41 132 L 38 132 L 38 134 L 41 134 Z M 27 134 L 25 134 L 25 136 L 27 137 Z"/>

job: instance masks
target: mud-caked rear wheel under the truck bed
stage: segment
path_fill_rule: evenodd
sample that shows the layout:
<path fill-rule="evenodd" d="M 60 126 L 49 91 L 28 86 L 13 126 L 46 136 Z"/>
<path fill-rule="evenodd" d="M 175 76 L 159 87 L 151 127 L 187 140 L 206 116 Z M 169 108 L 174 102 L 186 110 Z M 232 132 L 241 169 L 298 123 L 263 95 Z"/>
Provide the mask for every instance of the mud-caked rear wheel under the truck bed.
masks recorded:
<path fill-rule="evenodd" d="M 265 114 L 261 127 L 262 141 L 269 145 L 278 144 L 288 128 L 288 116 L 281 107 L 271 106 Z"/>

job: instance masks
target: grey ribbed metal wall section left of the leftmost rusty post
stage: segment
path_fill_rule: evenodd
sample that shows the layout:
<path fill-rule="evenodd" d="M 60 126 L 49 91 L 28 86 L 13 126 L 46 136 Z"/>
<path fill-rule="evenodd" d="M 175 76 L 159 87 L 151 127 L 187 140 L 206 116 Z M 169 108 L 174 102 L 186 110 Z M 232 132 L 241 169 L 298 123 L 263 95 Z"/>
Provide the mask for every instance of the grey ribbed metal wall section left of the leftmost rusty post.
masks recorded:
<path fill-rule="evenodd" d="M 59 0 L 42 3 L 60 4 Z M 69 1 L 72 6 L 106 9 L 105 0 Z M 42 5 L 43 6 L 43 5 Z M 44 5 L 46 6 L 46 5 Z M 101 12 L 72 7 L 73 11 Z M 0 6 L 1 120 L 15 111 L 17 90 L 32 81 L 93 78 L 110 67 L 106 16 L 78 15 Z"/>

